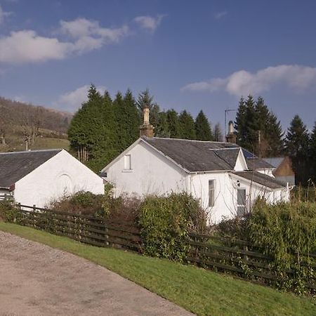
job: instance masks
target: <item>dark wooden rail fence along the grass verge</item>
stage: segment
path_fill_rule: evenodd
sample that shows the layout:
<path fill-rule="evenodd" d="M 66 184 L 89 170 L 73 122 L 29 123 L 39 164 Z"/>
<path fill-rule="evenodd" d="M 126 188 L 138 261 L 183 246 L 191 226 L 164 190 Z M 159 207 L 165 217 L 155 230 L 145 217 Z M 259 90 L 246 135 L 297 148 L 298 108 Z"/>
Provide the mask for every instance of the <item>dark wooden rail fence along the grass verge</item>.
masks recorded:
<path fill-rule="evenodd" d="M 124 221 L 109 221 L 25 205 L 20 205 L 19 217 L 16 220 L 21 225 L 67 236 L 86 244 L 143 252 L 140 229 Z M 284 281 L 284 277 L 291 277 L 296 273 L 293 268 L 282 271 L 281 279 L 280 273 L 272 268 L 273 259 L 265 255 L 263 249 L 244 240 L 190 233 L 187 246 L 189 251 L 185 258 L 186 263 L 220 272 L 231 272 L 255 282 L 276 284 Z M 316 269 L 316 254 L 309 254 L 308 258 L 312 258 L 314 263 L 306 261 L 302 265 Z M 312 281 L 307 282 L 305 286 L 311 291 L 316 290 L 316 284 Z"/>

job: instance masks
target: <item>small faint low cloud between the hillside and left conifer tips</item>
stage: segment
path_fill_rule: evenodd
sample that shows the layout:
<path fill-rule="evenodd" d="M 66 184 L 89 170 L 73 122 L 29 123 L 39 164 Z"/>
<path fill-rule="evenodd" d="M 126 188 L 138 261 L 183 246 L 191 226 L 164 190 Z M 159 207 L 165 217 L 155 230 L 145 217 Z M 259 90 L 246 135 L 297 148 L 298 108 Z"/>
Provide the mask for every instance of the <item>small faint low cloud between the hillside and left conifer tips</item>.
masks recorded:
<path fill-rule="evenodd" d="M 70 112 L 75 112 L 81 106 L 81 103 L 88 100 L 88 89 L 90 86 L 88 84 L 81 86 L 74 91 L 69 91 L 63 93 L 58 101 L 53 103 L 54 106 L 62 108 L 62 110 L 67 110 Z M 105 86 L 97 86 L 96 89 L 103 94 L 106 90 Z"/>

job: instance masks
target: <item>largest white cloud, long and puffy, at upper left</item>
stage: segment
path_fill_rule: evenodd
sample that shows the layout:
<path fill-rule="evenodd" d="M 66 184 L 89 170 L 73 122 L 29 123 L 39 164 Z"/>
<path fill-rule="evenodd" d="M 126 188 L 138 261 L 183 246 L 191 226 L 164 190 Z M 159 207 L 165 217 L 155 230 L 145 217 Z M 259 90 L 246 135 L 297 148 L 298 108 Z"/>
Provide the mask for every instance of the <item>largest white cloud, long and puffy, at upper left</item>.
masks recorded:
<path fill-rule="evenodd" d="M 55 37 L 41 37 L 34 30 L 11 32 L 0 37 L 0 62 L 18 64 L 61 60 L 73 53 L 86 53 L 104 45 L 117 43 L 129 34 L 126 25 L 119 28 L 100 27 L 96 21 L 77 19 L 60 21 L 59 34 L 70 39 L 61 41 Z"/>

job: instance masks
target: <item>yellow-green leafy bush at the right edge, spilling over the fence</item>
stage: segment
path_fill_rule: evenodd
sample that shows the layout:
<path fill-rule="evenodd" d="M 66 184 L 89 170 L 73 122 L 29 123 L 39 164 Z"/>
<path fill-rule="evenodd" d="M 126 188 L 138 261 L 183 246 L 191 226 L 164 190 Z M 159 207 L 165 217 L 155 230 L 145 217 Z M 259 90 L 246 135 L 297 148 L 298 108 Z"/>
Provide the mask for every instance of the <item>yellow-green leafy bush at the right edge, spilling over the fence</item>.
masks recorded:
<path fill-rule="evenodd" d="M 289 268 L 316 249 L 316 204 L 266 204 L 258 199 L 248 223 L 249 236 L 278 265 Z"/>

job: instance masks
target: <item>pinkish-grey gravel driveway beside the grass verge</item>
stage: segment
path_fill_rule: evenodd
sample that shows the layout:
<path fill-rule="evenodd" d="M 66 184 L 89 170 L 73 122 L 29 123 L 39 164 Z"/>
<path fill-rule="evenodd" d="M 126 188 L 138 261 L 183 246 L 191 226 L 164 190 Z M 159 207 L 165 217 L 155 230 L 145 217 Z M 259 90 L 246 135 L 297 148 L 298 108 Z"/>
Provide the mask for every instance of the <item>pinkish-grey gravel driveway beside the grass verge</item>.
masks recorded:
<path fill-rule="evenodd" d="M 0 232 L 0 315 L 192 315 L 114 272 Z"/>

